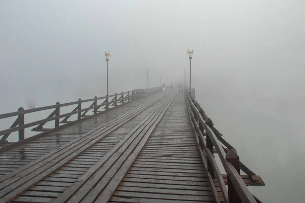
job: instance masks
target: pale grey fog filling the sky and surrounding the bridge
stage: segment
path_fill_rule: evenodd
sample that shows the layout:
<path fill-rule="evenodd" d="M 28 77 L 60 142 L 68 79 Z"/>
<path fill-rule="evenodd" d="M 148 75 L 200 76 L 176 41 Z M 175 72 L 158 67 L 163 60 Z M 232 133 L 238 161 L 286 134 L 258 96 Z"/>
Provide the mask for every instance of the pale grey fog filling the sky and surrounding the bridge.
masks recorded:
<path fill-rule="evenodd" d="M 184 80 L 265 187 L 304 202 L 304 1 L 1 1 L 0 112 Z M 189 72 L 187 71 L 187 81 Z M 10 124 L 9 124 L 10 125 Z"/>

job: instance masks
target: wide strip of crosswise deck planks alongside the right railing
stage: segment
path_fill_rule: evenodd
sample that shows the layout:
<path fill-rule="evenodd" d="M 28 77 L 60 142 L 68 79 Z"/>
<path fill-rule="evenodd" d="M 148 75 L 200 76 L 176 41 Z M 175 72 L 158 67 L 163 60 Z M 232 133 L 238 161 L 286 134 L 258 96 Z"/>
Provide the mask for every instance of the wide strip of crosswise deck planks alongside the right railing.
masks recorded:
<path fill-rule="evenodd" d="M 176 95 L 110 202 L 215 202 L 183 94 Z"/>

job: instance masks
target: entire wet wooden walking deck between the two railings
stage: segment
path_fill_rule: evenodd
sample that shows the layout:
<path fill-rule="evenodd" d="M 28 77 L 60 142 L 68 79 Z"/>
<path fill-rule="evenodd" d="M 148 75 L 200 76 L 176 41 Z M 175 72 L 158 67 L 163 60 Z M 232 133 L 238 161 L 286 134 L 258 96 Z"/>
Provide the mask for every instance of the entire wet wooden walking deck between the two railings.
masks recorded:
<path fill-rule="evenodd" d="M 197 140 L 185 94 L 135 100 L 2 150 L 0 203 L 223 202 Z"/>

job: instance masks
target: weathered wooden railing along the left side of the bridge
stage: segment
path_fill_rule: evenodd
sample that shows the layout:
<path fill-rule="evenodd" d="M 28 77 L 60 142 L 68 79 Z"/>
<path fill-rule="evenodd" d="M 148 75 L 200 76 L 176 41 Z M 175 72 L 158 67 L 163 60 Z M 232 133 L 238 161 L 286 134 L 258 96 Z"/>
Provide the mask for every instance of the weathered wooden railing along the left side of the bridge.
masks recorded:
<path fill-rule="evenodd" d="M 59 127 L 59 124 L 68 124 L 73 122 L 68 119 L 74 114 L 77 114 L 77 120 L 80 120 L 81 118 L 89 116 L 86 115 L 86 113 L 91 109 L 93 109 L 94 114 L 97 114 L 100 112 L 104 112 L 105 110 L 107 111 L 108 109 L 111 109 L 112 106 L 116 107 L 118 103 L 120 104 L 128 103 L 133 100 L 142 98 L 146 95 L 150 95 L 160 91 L 161 91 L 160 87 L 150 88 L 150 89 L 137 89 L 128 92 L 121 92 L 119 94 L 115 93 L 113 95 L 106 95 L 104 97 L 96 96 L 95 98 L 92 99 L 86 99 L 86 100 L 79 99 L 78 101 L 64 103 L 64 104 L 60 104 L 59 102 L 57 102 L 55 105 L 43 106 L 43 107 L 27 109 L 27 110 L 24 110 L 22 107 L 20 107 L 18 111 L 0 114 L 0 119 L 17 116 L 16 120 L 14 121 L 14 123 L 10 128 L 0 131 L 0 136 L 3 135 L 3 137 L 0 139 L 0 144 L 7 143 L 7 138 L 10 136 L 11 133 L 16 131 L 18 131 L 18 140 L 21 141 L 24 139 L 24 130 L 26 128 L 37 126 L 33 128 L 32 131 L 45 132 L 51 130 L 50 128 L 43 128 L 44 125 L 49 121 L 54 120 L 54 127 L 57 128 Z M 101 104 L 98 104 L 100 100 L 103 100 L 103 102 Z M 87 108 L 82 108 L 82 104 L 86 102 L 93 102 L 93 103 Z M 71 112 L 60 114 L 60 108 L 65 106 L 72 106 L 72 105 L 76 105 L 76 107 Z M 105 110 L 99 111 L 99 109 L 102 106 L 105 106 L 104 107 Z M 54 109 L 54 110 L 47 118 L 25 124 L 24 114 L 34 113 L 49 109 Z M 63 119 L 60 120 L 61 118 Z"/>

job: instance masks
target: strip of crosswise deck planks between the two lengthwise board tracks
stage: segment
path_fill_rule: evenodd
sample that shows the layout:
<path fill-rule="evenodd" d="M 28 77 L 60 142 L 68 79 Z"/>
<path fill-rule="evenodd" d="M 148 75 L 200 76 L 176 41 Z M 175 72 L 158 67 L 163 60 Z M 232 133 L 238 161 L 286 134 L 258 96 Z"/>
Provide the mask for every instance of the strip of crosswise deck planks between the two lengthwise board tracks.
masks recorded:
<path fill-rule="evenodd" d="M 96 164 L 96 162 L 103 157 L 109 149 L 128 134 L 149 113 L 153 112 L 166 98 L 167 97 L 157 101 L 152 106 L 135 116 L 128 123 L 102 138 L 92 147 L 83 151 L 56 172 L 48 175 L 41 182 L 22 193 L 12 202 L 49 202 L 56 198 L 67 187 L 73 184 L 84 172 Z"/>

